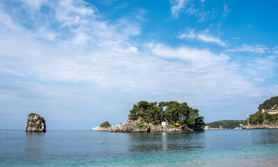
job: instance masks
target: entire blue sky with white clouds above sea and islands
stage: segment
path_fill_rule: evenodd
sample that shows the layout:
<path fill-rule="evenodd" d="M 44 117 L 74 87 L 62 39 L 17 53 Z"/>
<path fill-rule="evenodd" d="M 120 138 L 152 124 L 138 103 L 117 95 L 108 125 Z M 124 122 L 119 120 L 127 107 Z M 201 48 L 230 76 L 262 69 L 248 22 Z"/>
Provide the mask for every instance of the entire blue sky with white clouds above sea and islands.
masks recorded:
<path fill-rule="evenodd" d="M 0 129 L 123 123 L 178 101 L 205 122 L 278 95 L 278 1 L 0 1 Z"/>

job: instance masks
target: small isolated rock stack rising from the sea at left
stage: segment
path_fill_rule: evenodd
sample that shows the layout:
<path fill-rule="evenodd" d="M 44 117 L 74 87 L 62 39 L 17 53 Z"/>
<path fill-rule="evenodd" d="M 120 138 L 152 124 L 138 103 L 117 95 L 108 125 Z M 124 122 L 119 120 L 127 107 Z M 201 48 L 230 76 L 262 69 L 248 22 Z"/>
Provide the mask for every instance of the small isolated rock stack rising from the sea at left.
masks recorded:
<path fill-rule="evenodd" d="M 45 119 L 36 113 L 28 115 L 26 132 L 46 132 Z"/>

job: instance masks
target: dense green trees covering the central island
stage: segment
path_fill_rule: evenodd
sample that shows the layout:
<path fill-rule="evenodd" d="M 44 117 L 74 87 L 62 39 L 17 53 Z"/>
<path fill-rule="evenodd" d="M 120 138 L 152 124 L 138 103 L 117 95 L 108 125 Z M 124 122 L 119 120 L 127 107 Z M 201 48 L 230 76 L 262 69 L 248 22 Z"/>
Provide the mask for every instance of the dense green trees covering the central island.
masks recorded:
<path fill-rule="evenodd" d="M 186 102 L 146 102 L 134 104 L 130 110 L 129 119 L 142 119 L 145 122 L 157 124 L 165 121 L 171 125 L 184 125 L 194 130 L 201 130 L 205 123 L 203 116 L 199 116 L 198 109 L 192 109 Z"/>

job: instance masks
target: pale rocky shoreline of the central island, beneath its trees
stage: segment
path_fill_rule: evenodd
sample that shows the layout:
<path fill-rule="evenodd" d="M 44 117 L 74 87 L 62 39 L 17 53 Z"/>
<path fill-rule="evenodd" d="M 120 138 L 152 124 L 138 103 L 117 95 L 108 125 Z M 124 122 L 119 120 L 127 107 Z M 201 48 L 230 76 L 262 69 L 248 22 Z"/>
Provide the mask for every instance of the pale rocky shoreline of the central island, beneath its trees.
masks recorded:
<path fill-rule="evenodd" d="M 142 120 L 126 120 L 123 125 L 116 127 L 100 127 L 98 131 L 104 132 L 122 132 L 122 133 L 136 133 L 136 132 L 193 132 L 188 127 L 171 128 L 162 125 L 153 125 L 151 123 L 143 122 Z"/>

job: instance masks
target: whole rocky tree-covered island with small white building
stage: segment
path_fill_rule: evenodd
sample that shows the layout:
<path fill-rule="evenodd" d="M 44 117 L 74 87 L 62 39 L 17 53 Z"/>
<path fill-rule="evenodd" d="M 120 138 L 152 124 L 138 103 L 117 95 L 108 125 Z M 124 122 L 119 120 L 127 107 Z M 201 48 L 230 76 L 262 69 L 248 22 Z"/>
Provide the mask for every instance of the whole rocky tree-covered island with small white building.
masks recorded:
<path fill-rule="evenodd" d="M 134 104 L 128 120 L 123 125 L 111 126 L 104 122 L 98 128 L 101 132 L 196 132 L 203 131 L 205 122 L 198 109 L 192 109 L 186 102 L 146 102 Z"/>

